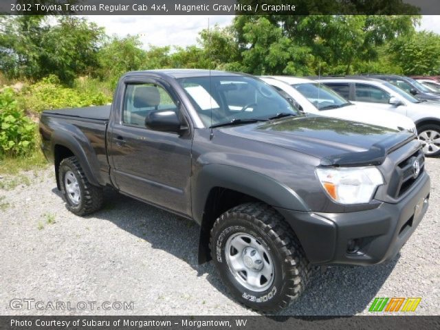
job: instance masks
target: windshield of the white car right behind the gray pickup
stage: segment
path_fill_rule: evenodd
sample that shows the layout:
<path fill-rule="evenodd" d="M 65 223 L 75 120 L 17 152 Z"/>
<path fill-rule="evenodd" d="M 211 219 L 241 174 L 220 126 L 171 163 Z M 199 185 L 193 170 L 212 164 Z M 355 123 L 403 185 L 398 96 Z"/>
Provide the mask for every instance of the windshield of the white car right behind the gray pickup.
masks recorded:
<path fill-rule="evenodd" d="M 307 98 L 318 110 L 336 109 L 351 104 L 336 91 L 318 83 L 300 83 L 292 85 Z"/>

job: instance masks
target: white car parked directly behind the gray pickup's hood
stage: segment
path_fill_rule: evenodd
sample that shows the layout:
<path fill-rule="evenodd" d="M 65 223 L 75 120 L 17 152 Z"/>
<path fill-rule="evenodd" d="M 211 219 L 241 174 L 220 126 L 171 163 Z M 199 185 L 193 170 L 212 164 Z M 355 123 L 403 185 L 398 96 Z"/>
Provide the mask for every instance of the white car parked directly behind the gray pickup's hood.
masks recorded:
<path fill-rule="evenodd" d="M 316 83 L 314 80 L 288 76 L 260 78 L 281 92 L 285 98 L 293 100 L 296 107 L 306 113 L 385 126 L 397 131 L 406 129 L 417 135 L 414 122 L 405 115 L 353 104 L 329 87 Z"/>

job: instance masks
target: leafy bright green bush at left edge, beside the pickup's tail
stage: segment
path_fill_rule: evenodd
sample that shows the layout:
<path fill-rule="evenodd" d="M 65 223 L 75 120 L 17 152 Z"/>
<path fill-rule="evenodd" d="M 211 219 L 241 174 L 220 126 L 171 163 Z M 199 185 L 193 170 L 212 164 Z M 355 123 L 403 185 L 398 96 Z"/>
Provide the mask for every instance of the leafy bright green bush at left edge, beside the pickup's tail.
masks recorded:
<path fill-rule="evenodd" d="M 36 125 L 17 106 L 10 88 L 0 93 L 0 156 L 27 155 L 34 149 Z"/>

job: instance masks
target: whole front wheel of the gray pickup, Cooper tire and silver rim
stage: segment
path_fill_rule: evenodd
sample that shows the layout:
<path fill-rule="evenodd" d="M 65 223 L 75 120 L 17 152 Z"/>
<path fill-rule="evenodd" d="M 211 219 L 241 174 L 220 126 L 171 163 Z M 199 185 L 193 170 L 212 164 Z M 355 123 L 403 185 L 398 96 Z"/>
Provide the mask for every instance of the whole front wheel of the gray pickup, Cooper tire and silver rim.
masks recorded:
<path fill-rule="evenodd" d="M 309 282 L 311 266 L 292 228 L 264 203 L 221 214 L 211 230 L 210 250 L 223 283 L 252 309 L 283 309 Z"/>

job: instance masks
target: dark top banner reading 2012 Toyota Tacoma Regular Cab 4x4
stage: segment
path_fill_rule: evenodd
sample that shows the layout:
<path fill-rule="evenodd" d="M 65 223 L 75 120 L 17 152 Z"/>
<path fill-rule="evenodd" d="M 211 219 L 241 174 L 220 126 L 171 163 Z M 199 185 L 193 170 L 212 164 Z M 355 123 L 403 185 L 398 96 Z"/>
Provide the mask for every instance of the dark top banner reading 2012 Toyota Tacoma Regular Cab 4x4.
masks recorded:
<path fill-rule="evenodd" d="M 440 14 L 439 0 L 1 0 L 12 15 Z"/>

